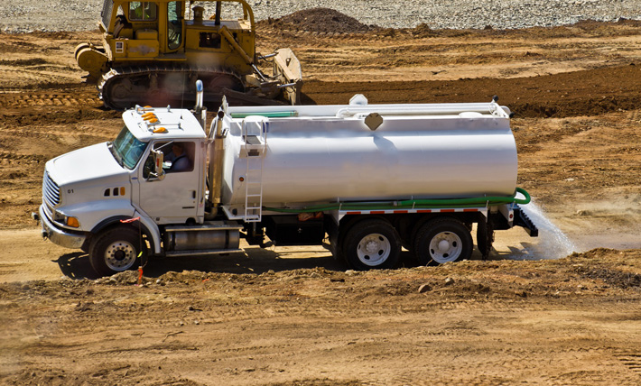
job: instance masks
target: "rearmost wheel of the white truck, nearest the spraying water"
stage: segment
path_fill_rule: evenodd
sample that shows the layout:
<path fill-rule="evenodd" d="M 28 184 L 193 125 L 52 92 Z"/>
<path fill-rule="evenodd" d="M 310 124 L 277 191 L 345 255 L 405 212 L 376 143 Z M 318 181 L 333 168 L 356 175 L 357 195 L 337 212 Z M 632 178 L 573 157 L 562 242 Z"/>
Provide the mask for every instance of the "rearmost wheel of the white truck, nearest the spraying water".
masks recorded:
<path fill-rule="evenodd" d="M 469 259 L 474 244 L 468 228 L 453 218 L 437 218 L 419 228 L 413 253 L 422 265 Z"/>

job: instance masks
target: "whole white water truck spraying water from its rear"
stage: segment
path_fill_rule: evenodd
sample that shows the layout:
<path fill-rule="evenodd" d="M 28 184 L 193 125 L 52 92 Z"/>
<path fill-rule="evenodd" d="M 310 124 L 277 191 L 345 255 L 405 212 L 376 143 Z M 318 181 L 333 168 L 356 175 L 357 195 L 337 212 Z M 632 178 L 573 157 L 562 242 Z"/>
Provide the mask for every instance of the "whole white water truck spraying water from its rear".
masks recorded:
<path fill-rule="evenodd" d="M 100 275 L 153 256 L 324 245 L 357 270 L 488 255 L 494 232 L 535 225 L 519 205 L 510 112 L 490 103 L 136 106 L 113 142 L 48 161 L 42 236 Z M 182 159 L 179 161 L 179 159 Z M 168 161 L 168 160 L 171 160 Z M 181 164 L 181 168 L 176 165 Z M 142 262 L 141 262 L 142 261 Z"/>

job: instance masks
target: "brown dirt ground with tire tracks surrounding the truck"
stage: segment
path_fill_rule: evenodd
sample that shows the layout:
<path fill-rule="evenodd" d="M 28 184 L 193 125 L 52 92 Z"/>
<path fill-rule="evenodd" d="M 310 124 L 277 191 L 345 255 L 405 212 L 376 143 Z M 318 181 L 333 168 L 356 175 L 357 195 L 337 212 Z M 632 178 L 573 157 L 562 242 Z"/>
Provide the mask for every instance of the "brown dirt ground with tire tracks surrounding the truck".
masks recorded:
<path fill-rule="evenodd" d="M 498 233 L 488 262 L 360 273 L 321 247 L 248 247 L 149 262 L 140 286 L 96 278 L 29 218 L 45 161 L 121 127 L 73 60 L 98 34 L 0 34 L 0 384 L 641 383 L 640 26 L 261 22 L 261 51 L 301 59 L 307 104 L 498 95 L 551 222 Z"/>

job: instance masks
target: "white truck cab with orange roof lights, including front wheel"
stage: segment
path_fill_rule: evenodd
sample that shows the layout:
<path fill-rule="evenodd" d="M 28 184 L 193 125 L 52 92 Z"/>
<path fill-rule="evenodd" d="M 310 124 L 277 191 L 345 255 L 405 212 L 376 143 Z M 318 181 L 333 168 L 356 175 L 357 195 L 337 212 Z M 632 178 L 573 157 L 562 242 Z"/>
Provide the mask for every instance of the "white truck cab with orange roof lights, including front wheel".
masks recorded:
<path fill-rule="evenodd" d="M 147 246 L 160 253 L 165 225 L 204 221 L 206 135 L 199 121 L 189 110 L 140 106 L 123 119 L 113 142 L 45 166 L 43 235 L 107 256 L 92 259 L 100 273 L 131 268 Z"/>

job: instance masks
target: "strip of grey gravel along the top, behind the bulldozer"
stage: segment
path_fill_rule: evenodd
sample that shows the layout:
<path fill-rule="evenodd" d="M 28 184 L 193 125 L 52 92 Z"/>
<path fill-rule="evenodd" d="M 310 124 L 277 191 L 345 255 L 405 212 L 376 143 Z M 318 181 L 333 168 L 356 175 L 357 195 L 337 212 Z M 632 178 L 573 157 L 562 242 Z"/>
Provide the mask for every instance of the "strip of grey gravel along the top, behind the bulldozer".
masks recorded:
<path fill-rule="evenodd" d="M 96 28 L 103 0 L 3 0 L 0 32 L 88 31 Z M 196 2 L 198 3 L 198 2 Z M 360 23 L 384 28 L 515 29 L 581 20 L 641 19 L 638 0 L 249 0 L 255 19 L 279 18 L 326 7 Z"/>

